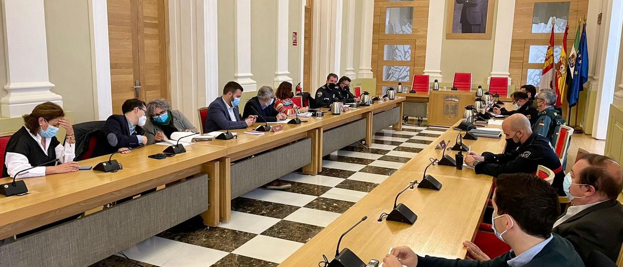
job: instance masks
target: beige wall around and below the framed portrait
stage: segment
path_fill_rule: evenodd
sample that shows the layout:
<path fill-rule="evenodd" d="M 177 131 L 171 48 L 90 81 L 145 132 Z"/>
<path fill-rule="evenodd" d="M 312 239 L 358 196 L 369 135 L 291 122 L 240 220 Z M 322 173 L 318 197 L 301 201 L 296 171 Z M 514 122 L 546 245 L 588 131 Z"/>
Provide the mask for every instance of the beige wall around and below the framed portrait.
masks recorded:
<path fill-rule="evenodd" d="M 444 76 L 444 82 L 451 83 L 455 72 L 472 72 L 472 84 L 487 84 L 487 78 L 491 75 L 493 66 L 497 5 L 495 5 L 495 10 L 488 12 L 493 12 L 491 39 L 445 39 L 444 35 L 441 49 L 441 75 Z M 449 14 L 448 12 L 443 12 L 443 14 L 444 29 L 447 29 Z"/>

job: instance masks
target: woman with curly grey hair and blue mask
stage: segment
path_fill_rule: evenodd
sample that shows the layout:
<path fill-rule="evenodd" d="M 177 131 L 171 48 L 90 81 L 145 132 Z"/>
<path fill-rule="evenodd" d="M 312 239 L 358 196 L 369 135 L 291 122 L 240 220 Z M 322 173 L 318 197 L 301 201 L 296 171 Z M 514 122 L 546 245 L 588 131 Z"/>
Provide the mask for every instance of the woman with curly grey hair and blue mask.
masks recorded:
<path fill-rule="evenodd" d="M 180 112 L 171 110 L 171 104 L 166 99 L 156 99 L 147 104 L 149 120 L 145 124 L 147 144 L 160 142 L 171 138 L 173 132 L 197 132 L 197 128 Z"/>

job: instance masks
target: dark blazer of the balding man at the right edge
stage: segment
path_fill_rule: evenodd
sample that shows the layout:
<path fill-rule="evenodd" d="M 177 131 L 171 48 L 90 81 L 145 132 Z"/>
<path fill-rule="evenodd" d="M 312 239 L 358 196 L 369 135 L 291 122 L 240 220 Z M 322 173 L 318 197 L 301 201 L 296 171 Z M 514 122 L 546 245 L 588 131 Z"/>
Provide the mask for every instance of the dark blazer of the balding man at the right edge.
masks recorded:
<path fill-rule="evenodd" d="M 623 206 L 607 200 L 572 216 L 554 228 L 569 240 L 583 261 L 596 250 L 616 262 L 623 243 Z"/>

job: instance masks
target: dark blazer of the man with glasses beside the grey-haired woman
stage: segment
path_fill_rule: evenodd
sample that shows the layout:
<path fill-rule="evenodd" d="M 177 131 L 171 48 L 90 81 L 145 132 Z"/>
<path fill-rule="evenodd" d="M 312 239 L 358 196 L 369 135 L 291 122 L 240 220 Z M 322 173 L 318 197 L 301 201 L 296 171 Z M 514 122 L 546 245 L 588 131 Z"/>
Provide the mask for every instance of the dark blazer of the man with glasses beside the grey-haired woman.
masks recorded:
<path fill-rule="evenodd" d="M 136 125 L 135 133 L 131 134 L 125 115 L 110 115 L 104 122 L 102 133 L 109 146 L 107 153 L 112 153 L 122 147 L 138 147 L 141 143 L 136 135 L 145 135 L 145 130 Z"/>

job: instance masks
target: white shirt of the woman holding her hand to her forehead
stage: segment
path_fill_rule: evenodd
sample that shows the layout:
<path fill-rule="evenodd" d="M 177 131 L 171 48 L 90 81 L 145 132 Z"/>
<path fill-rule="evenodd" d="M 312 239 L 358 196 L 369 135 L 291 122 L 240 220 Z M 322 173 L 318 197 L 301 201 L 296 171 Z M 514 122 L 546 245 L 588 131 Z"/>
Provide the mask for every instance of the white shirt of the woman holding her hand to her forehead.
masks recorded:
<path fill-rule="evenodd" d="M 52 138 L 45 138 L 45 147 L 43 147 L 43 145 L 41 145 L 41 138 L 43 138 L 41 135 L 33 135 L 30 131 L 28 131 L 28 134 L 31 135 L 37 144 L 39 144 L 39 148 L 41 148 L 45 155 L 47 155 L 47 148 L 50 147 Z M 61 163 L 71 162 L 75 158 L 75 146 L 70 145 L 69 142 L 65 142 L 65 146 L 63 146 L 62 143 L 59 143 L 59 145 L 54 148 L 54 152 L 56 153 L 56 158 L 58 158 Z M 7 152 L 5 159 L 4 164 L 6 165 L 7 173 L 9 173 L 9 176 L 11 177 L 21 170 L 32 167 L 26 155 L 22 155 L 20 153 Z M 42 166 L 22 172 L 17 178 L 38 177 L 44 175 L 45 166 Z"/>

